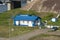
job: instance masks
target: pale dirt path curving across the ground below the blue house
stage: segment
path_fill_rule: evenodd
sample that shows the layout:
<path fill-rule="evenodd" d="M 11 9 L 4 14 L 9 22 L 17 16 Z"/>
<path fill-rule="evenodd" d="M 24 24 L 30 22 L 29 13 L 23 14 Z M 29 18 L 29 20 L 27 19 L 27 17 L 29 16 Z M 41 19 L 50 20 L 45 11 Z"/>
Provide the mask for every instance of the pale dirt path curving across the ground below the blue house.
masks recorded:
<path fill-rule="evenodd" d="M 29 38 L 33 37 L 33 36 L 36 36 L 38 34 L 58 34 L 60 35 L 60 31 L 56 31 L 56 32 L 48 32 L 49 29 L 38 29 L 38 30 L 34 30 L 32 32 L 29 32 L 27 34 L 24 34 L 24 35 L 21 35 L 21 36 L 16 36 L 16 37 L 13 37 L 13 38 L 9 38 L 9 39 L 6 39 L 6 40 L 28 40 Z M 1 39 L 0 40 L 5 40 L 5 39 Z"/>

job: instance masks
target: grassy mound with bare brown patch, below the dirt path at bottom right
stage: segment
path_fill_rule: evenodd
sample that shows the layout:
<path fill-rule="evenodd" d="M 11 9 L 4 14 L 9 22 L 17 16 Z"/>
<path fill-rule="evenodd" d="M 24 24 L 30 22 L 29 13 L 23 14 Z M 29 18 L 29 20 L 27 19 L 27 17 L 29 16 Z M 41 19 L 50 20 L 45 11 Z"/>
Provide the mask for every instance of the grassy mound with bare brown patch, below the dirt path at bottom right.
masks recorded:
<path fill-rule="evenodd" d="M 40 34 L 30 38 L 29 40 L 60 40 L 60 35 Z"/>

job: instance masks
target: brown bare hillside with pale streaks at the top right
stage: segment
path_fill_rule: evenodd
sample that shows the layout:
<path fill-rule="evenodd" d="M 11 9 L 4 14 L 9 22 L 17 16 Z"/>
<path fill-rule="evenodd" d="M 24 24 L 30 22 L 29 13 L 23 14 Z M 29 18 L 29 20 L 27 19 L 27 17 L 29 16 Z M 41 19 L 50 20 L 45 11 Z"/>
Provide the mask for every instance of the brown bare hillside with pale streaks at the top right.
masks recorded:
<path fill-rule="evenodd" d="M 29 6 L 27 6 L 30 10 L 38 12 L 60 12 L 60 0 L 37 0 L 35 3 L 32 2 L 31 4 L 33 5 L 29 4 Z"/>

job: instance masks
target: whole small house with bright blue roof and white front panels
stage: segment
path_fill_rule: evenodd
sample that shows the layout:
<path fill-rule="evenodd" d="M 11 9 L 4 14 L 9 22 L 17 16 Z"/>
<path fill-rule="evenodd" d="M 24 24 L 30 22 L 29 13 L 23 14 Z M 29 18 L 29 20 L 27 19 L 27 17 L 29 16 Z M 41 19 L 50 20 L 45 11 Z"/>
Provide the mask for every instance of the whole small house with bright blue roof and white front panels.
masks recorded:
<path fill-rule="evenodd" d="M 41 18 L 38 16 L 17 15 L 14 17 L 14 25 L 28 27 L 40 26 Z"/>

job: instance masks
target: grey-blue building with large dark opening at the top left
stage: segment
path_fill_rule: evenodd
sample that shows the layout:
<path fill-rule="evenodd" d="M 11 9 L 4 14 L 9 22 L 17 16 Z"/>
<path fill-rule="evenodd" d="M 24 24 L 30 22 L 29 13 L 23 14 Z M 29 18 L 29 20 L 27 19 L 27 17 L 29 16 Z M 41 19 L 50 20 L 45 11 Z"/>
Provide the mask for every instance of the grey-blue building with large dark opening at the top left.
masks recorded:
<path fill-rule="evenodd" d="M 0 0 L 0 12 L 25 6 L 27 0 Z"/>

